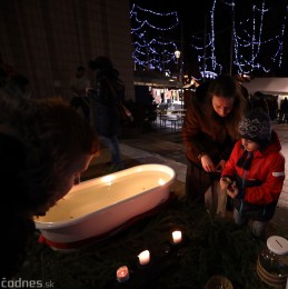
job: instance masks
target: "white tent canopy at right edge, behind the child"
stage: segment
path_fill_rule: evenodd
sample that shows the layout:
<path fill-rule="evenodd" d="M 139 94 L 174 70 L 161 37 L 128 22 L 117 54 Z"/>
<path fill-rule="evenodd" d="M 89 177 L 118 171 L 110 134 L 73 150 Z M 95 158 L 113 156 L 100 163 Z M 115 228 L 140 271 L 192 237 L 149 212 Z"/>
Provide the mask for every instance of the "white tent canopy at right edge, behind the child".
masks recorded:
<path fill-rule="evenodd" d="M 261 91 L 266 94 L 287 94 L 288 96 L 288 78 L 255 78 L 249 82 L 244 82 L 249 93 Z"/>

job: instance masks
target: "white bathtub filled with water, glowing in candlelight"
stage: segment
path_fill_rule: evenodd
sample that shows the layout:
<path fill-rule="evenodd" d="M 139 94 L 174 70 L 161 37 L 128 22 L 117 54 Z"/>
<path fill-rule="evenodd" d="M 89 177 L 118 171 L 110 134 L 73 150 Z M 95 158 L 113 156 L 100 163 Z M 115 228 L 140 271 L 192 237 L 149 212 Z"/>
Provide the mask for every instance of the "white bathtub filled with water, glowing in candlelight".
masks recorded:
<path fill-rule="evenodd" d="M 141 165 L 83 181 L 43 217 L 34 218 L 42 240 L 72 249 L 118 231 L 170 197 L 176 172 L 163 165 Z"/>

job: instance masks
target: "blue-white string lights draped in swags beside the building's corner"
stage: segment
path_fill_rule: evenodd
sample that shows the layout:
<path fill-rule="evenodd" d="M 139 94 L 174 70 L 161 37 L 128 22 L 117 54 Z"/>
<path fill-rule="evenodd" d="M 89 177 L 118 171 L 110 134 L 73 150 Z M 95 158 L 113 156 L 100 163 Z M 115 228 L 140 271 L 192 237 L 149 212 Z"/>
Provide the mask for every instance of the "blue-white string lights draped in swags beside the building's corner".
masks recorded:
<path fill-rule="evenodd" d="M 167 33 L 178 28 L 178 13 L 159 13 L 133 4 L 130 19 L 135 67 L 171 74 L 170 67 L 177 62 L 173 54 L 177 44 L 175 41 L 168 40 L 171 37 Z"/>

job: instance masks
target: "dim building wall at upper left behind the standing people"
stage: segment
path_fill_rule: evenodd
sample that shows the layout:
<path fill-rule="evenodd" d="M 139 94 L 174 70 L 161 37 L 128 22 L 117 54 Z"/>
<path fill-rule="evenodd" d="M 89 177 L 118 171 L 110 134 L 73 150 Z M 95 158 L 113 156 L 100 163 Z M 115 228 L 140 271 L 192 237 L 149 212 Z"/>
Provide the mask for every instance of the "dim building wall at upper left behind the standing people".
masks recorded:
<path fill-rule="evenodd" d="M 0 1 L 0 53 L 36 97 L 70 98 L 78 66 L 109 57 L 135 99 L 129 0 Z"/>

